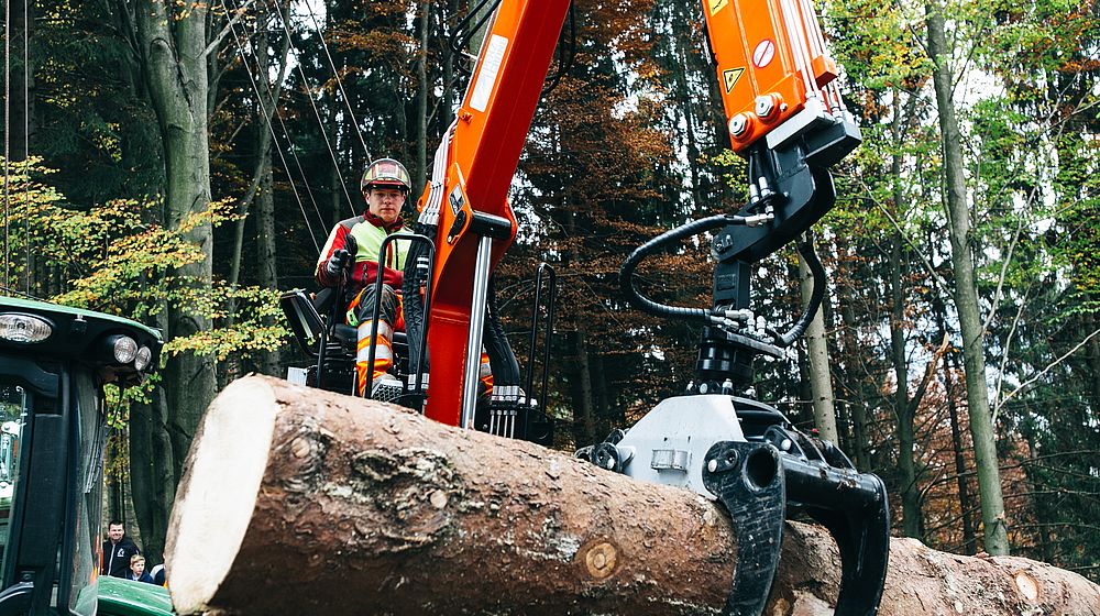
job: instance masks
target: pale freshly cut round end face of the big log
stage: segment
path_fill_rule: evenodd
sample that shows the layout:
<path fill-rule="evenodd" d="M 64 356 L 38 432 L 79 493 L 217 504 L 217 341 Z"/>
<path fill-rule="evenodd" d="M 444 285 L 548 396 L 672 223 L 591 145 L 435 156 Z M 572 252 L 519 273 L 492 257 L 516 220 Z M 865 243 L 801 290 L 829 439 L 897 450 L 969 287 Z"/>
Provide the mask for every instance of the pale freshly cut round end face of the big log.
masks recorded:
<path fill-rule="evenodd" d="M 172 509 L 165 550 L 179 614 L 206 609 L 248 531 L 279 408 L 270 382 L 245 377 L 210 405 Z"/>

